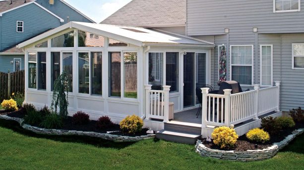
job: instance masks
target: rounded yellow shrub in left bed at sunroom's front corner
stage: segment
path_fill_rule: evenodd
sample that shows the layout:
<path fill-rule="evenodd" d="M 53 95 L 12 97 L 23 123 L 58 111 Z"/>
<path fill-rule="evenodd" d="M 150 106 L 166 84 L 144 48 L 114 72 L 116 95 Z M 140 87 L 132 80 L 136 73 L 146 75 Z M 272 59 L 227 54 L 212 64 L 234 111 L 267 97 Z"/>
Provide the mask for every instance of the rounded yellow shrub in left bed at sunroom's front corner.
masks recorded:
<path fill-rule="evenodd" d="M 135 134 L 140 132 L 143 126 L 143 121 L 137 115 L 126 116 L 120 123 L 123 133 Z"/>

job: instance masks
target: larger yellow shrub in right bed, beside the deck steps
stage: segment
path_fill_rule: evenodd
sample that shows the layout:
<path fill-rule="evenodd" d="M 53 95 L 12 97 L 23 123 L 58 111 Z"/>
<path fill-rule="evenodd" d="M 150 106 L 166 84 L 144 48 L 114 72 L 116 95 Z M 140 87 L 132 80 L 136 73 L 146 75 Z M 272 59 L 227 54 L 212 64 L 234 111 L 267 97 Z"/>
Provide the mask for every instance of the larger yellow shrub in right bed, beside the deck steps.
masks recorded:
<path fill-rule="evenodd" d="M 234 147 L 237 143 L 237 139 L 239 138 L 235 129 L 225 126 L 215 128 L 211 136 L 213 138 L 213 143 L 220 146 L 222 149 Z"/>

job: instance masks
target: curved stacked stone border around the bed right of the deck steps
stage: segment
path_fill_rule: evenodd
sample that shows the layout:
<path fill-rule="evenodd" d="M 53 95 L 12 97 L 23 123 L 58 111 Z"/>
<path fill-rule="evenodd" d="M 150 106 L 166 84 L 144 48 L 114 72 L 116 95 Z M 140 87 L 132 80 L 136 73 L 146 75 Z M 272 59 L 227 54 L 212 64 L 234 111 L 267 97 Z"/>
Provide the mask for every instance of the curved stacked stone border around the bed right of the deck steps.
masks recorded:
<path fill-rule="evenodd" d="M 284 140 L 278 143 L 273 143 L 272 146 L 263 150 L 247 150 L 247 151 L 222 151 L 207 148 L 202 144 L 201 140 L 197 140 L 195 148 L 196 152 L 203 157 L 213 157 L 216 159 L 250 162 L 261 161 L 274 157 L 279 150 L 288 145 L 295 137 L 304 133 L 304 128 L 293 131 Z"/>

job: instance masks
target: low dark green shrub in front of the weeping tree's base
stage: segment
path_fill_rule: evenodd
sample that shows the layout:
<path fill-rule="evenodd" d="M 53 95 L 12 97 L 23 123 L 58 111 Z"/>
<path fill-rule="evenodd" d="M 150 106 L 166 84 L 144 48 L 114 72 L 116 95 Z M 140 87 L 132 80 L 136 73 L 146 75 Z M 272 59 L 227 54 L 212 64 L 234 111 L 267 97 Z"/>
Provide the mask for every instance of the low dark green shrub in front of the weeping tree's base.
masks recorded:
<path fill-rule="evenodd" d="M 47 129 L 56 129 L 62 127 L 61 115 L 55 112 L 46 115 L 43 121 L 40 123 L 40 126 Z"/>

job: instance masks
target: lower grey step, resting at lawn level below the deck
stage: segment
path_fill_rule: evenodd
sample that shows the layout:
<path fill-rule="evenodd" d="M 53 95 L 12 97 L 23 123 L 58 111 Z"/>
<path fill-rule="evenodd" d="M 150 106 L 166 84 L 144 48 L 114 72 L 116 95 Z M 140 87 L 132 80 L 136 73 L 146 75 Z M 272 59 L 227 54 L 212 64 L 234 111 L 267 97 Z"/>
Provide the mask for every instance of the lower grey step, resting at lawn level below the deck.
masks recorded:
<path fill-rule="evenodd" d="M 201 138 L 201 135 L 164 129 L 156 132 L 156 138 L 178 143 L 195 144 L 197 139 Z"/>

